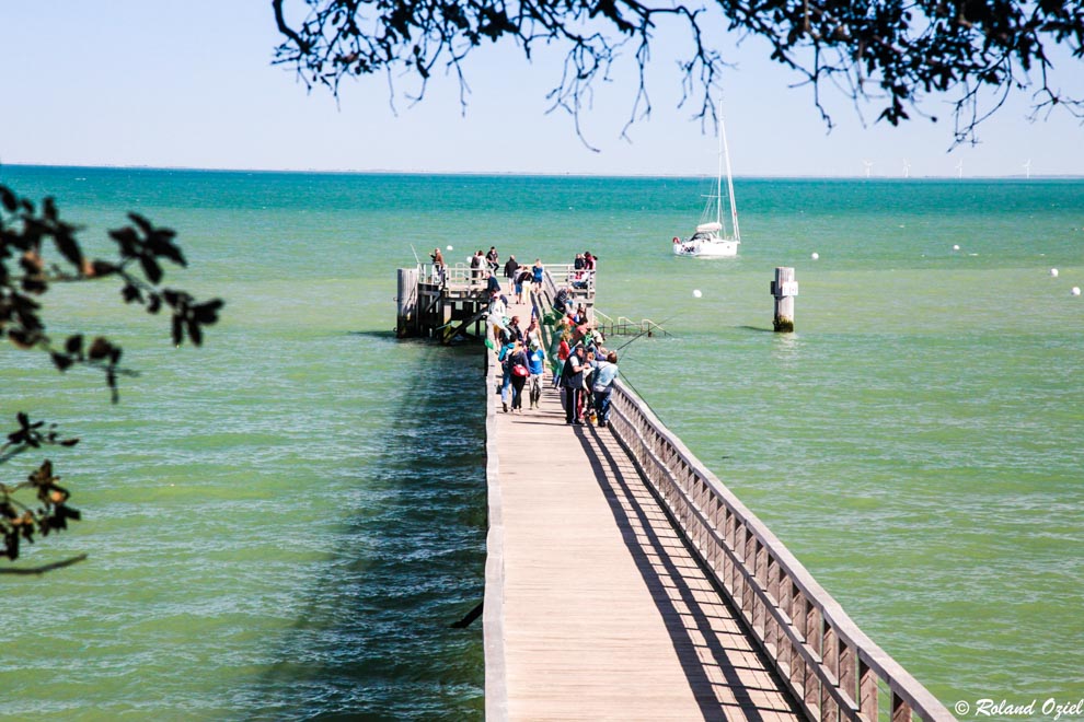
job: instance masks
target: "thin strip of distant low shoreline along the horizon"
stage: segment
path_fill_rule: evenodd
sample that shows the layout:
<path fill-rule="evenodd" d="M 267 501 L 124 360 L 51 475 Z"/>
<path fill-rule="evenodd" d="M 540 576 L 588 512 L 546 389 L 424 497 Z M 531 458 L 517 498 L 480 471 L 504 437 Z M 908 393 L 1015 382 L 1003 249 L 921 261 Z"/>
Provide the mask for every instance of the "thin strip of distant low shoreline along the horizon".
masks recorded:
<path fill-rule="evenodd" d="M 185 173 L 266 173 L 266 174 L 305 174 L 305 175 L 430 175 L 430 176 L 476 176 L 476 177 L 524 177 L 524 178 L 704 178 L 711 174 L 613 174 L 613 173 L 546 173 L 529 171 L 396 171 L 387 168 L 358 170 L 321 170 L 321 168 L 200 168 L 185 165 L 59 165 L 54 163 L 0 163 L 0 174 L 3 168 L 78 168 L 87 171 L 178 171 Z M 735 174 L 736 178 L 749 180 L 869 180 L 876 182 L 922 182 L 922 180 L 1080 180 L 1084 175 L 1038 175 L 1027 178 L 1023 173 L 1015 175 L 973 175 L 957 177 L 955 175 L 916 175 L 908 178 L 896 175 L 743 175 Z"/>

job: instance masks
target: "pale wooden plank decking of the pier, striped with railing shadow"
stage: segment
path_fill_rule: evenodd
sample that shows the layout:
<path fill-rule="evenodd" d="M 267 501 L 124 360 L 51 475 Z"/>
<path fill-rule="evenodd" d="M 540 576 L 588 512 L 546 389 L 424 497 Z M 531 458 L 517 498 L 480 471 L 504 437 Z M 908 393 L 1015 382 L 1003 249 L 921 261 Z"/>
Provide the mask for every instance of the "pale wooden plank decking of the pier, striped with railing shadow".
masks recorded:
<path fill-rule="evenodd" d="M 497 403 L 492 427 L 501 717 L 800 719 L 610 430 L 566 426 L 546 381 L 541 409 Z"/>

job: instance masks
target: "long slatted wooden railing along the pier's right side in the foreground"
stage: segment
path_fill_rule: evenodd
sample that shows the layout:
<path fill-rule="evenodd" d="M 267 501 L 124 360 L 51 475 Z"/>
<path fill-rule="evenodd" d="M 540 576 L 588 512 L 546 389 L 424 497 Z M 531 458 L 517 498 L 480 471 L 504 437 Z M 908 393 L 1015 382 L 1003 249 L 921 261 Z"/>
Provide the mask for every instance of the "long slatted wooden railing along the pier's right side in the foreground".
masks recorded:
<path fill-rule="evenodd" d="M 812 720 L 953 720 L 624 385 L 610 426 Z"/>

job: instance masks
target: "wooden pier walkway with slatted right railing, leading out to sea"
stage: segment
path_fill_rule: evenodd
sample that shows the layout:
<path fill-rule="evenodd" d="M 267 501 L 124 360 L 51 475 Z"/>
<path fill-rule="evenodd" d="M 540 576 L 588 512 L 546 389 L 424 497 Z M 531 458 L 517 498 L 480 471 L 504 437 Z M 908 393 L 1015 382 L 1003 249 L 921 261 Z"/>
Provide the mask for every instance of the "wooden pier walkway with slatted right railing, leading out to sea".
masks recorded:
<path fill-rule="evenodd" d="M 486 719 L 954 719 L 620 381 L 570 427 L 485 356 Z"/>

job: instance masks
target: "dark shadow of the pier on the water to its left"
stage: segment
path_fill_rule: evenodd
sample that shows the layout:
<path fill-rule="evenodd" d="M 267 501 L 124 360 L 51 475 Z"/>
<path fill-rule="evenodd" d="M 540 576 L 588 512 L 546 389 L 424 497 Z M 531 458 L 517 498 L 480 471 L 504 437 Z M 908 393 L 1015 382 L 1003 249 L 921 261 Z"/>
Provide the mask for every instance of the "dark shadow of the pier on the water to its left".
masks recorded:
<path fill-rule="evenodd" d="M 357 471 L 364 501 L 298 590 L 307 606 L 250 690 L 252 719 L 483 717 L 482 625 L 452 628 L 484 592 L 481 354 L 413 351 L 380 451 Z"/>

